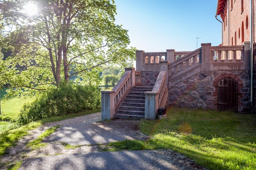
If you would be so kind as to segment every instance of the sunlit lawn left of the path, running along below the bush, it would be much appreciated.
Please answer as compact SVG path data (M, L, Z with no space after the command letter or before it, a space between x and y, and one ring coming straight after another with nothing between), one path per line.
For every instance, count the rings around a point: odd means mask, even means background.
M1 97L2 94L3 93L1 93ZM29 130L37 128L44 122L60 121L63 119L68 119L76 116L100 112L100 109L85 110L80 113L50 117L37 122L31 122L24 126L16 124L15 119L18 118L18 114L23 104L31 101L31 97L11 98L8 100L2 100L1 98L2 115L0 115L0 157L6 153L7 148L15 145L18 139L27 135Z

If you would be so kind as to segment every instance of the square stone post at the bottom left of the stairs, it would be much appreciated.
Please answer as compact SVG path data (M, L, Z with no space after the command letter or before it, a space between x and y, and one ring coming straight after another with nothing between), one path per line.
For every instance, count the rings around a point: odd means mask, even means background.
M115 114L115 91L101 91L101 120L110 120Z

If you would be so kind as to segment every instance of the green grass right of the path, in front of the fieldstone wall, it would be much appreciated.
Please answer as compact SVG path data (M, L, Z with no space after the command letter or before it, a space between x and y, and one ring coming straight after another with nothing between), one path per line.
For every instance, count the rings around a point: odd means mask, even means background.
M254 114L171 108L166 119L144 120L140 129L151 139L113 142L109 150L171 149L210 170L256 169Z

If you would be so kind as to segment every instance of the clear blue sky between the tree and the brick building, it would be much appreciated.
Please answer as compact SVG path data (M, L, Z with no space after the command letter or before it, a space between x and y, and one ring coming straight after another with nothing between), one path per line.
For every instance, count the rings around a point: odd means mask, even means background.
M115 23L128 30L130 46L138 50L193 51L197 37L198 48L221 44L217 0L115 0L115 5Z

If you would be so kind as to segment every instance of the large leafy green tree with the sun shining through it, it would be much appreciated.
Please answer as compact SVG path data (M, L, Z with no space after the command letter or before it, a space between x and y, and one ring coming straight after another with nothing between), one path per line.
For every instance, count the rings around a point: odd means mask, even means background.
M26 13L27 3L36 14ZM44 89L73 75L96 81L103 64L131 66L135 49L115 15L113 0L0 0L10 86Z

